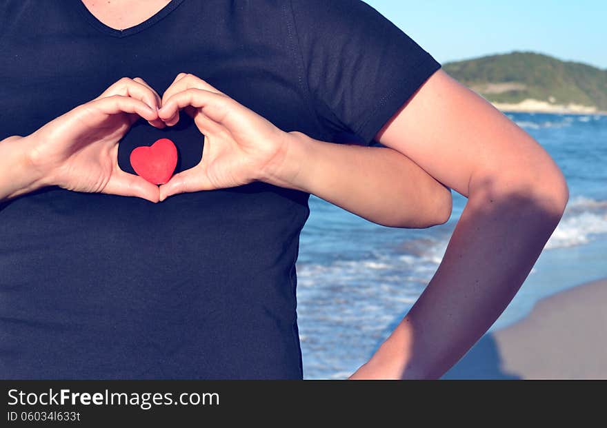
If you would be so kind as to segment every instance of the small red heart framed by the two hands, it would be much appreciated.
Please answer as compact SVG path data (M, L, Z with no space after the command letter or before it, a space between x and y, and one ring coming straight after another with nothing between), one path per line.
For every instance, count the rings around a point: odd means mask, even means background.
M130 152L130 164L143 179L164 184L177 166L177 147L169 139L159 139L150 147L142 145Z

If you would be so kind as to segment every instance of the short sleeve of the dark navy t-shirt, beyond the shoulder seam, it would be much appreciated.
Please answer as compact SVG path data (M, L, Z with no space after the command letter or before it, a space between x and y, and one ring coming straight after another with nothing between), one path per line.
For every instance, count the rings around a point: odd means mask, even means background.
M304 79L319 120L372 145L441 65L364 1L291 0Z

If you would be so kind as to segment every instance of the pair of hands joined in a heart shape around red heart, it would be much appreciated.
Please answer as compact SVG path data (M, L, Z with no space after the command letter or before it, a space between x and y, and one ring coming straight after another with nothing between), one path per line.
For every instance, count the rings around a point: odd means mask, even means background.
M204 135L201 162L170 179L168 173L148 176L154 184L142 177L146 174L121 170L118 143L130 126L140 117L156 128L172 126L180 110ZM179 74L162 99L143 79L123 78L30 134L28 161L40 185L158 202L172 194L267 179L283 161L289 134L192 74ZM174 157L169 154L168 165Z

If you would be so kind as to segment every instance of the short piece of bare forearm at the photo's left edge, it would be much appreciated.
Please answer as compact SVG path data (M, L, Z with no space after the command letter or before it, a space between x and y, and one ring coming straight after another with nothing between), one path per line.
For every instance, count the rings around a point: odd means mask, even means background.
M42 177L28 163L28 137L9 136L0 141L0 201L43 187Z

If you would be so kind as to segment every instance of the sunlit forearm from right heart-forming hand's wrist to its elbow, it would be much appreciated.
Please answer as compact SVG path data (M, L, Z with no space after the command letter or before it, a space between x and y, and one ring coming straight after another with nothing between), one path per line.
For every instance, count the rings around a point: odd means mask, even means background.
M281 167L264 181L315 194L381 225L428 227L448 220L450 190L396 150L287 135Z

